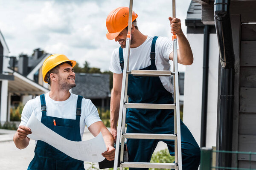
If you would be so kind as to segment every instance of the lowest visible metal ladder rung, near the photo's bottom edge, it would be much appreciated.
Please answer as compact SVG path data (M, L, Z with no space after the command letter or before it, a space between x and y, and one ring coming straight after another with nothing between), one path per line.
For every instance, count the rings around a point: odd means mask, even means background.
M177 167L177 164L174 164L174 163L153 163L153 162L122 162L120 164L120 167L175 169L175 167Z

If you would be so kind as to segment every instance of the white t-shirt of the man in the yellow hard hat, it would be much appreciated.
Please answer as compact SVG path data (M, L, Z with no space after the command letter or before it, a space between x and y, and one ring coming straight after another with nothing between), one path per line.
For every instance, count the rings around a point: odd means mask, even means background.
M70 97L65 101L55 101L50 98L49 92L44 94L46 102L46 115L58 117L62 119L76 119L76 103L78 95L70 93ZM26 125L29 117L35 113L37 119L41 122L41 100L40 96L29 100L23 108L21 114L20 125ZM82 99L81 103L81 117L80 117L80 134L81 139L84 133L85 125L89 127L95 122L99 122L99 113L97 108L93 105L90 99Z

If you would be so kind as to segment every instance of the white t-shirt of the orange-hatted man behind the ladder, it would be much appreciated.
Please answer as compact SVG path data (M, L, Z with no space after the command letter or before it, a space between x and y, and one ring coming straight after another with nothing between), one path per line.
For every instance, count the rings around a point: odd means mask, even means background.
M139 70L151 65L150 52L153 38L154 36L148 35L147 39L145 42L143 42L142 45L136 48L130 48L129 71ZM169 55L172 53L172 41L167 37L158 37L155 46L155 53L155 64L157 70L169 71L171 68ZM123 48L123 56L125 59L125 48ZM116 48L111 56L109 70L116 74L122 74L119 62L119 48ZM160 77L160 80L163 84L163 87L170 93L173 93L171 76Z

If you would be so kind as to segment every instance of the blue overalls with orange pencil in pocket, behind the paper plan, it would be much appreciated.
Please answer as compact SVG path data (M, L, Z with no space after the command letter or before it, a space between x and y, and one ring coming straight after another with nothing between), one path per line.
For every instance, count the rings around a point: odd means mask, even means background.
M82 96L78 96L76 104L76 119L61 119L46 115L44 94L40 96L42 118L41 122L49 129L71 141L81 141L80 116ZM55 119L56 126L53 124ZM55 147L38 140L35 156L29 164L28 170L84 170L84 161L67 156Z

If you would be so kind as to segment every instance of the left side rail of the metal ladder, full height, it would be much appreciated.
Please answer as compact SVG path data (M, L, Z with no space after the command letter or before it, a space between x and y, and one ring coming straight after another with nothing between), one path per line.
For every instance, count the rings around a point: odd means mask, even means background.
M128 81L128 62L129 62L129 55L130 55L130 45L131 45L131 21L132 21L132 4L133 0L130 0L130 7L129 7L129 18L128 18L128 34L126 37L126 46L125 46L125 59L124 59L124 69L123 69L123 76L122 76L122 90L121 90L121 99L120 99L120 107L119 107L119 119L118 119L118 129L117 129L117 136L116 136L116 153L115 153L115 160L114 160L114 170L117 170L118 166L118 159L119 159L119 143L120 143L120 136L121 136L121 126L122 126L122 114L123 114L123 105L127 100L127 84ZM125 95L126 94L126 95ZM120 163L120 162L119 162ZM122 170L120 167L119 170Z

